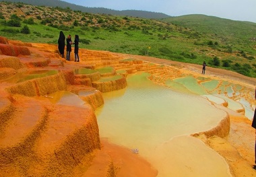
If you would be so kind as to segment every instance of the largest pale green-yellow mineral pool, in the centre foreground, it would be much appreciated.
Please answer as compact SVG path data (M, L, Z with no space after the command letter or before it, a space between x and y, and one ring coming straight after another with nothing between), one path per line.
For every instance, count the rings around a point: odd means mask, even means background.
M104 106L96 110L100 137L138 149L158 176L231 176L218 153L189 136L216 127L226 112L201 96L156 85L148 75L131 75L127 88L103 93Z

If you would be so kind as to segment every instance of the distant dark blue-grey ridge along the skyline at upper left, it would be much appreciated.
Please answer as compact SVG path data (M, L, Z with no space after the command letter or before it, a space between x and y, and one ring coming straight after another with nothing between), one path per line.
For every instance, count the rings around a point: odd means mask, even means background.
M44 0L44 1L37 1L37 0L5 0L7 2L13 3L26 3L30 5L39 5L39 6L49 6L49 7L61 7L67 8L74 11L82 11L87 13L100 13L100 14L110 14L110 15L123 15L123 16L131 16L131 17L143 17L143 18L150 18L150 19L161 19L170 17L164 13L152 12L152 11L137 11L137 10L123 10L117 11L113 9L107 9L103 7L84 7L82 5L75 5L73 3L67 3L65 1L59 0Z

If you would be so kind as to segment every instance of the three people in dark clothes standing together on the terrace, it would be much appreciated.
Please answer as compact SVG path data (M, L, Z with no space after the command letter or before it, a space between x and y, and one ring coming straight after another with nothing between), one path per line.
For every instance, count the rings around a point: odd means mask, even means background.
M65 35L63 31L59 32L59 40L58 40L58 48L59 52L61 53L61 57L64 58L64 50L65 50L65 40L67 42L67 55L66 55L66 60L70 61L70 53L71 53L71 45L75 44L75 62L79 62L79 55L78 55L78 50L79 50L79 36L75 34L75 40L72 42L71 35L67 36L65 39Z

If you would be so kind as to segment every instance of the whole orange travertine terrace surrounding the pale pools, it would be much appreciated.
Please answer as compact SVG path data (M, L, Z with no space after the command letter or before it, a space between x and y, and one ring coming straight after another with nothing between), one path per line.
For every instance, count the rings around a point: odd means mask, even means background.
M127 173L131 176L157 176L157 169L139 155L100 139L94 110L104 104L101 93L127 87L127 75L137 72L151 73L149 79L169 87L166 84L168 79L189 75L199 84L216 79L216 75L201 79L200 71L197 72L200 66L192 68L147 57L86 49L80 49L79 56L79 63L73 61L73 56L71 61L66 61L60 57L57 45L30 44L0 37L1 176L124 176ZM113 67L113 71L74 72L75 69L96 71L104 67ZM106 81L101 80L106 77ZM218 80L220 82L214 89L208 89L208 93L225 93L225 88L234 84L220 77ZM248 81L242 86L234 84L233 88L240 94L233 94L232 99L243 97L255 104L251 94L254 89L252 83ZM188 87L171 88L193 92ZM49 95L59 91L74 94L86 91L88 94L81 96L84 100L82 106L53 104L49 101ZM219 105L224 108L228 106L225 100ZM245 110L238 107L235 112L243 113ZM234 122L232 116L227 116L218 127L195 133L194 136L213 149L217 147L213 137L230 145L234 141L234 136L230 141L227 138L230 118ZM236 121L244 121L249 127L250 120L237 118ZM234 129L232 123L231 129ZM227 159L232 174L239 175L236 169L238 163L235 160L229 162L222 150L219 146L216 148ZM244 167L253 175L248 165L253 157L246 159L245 155L248 153L239 158L244 164L247 163Z

